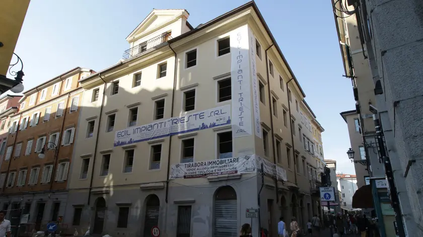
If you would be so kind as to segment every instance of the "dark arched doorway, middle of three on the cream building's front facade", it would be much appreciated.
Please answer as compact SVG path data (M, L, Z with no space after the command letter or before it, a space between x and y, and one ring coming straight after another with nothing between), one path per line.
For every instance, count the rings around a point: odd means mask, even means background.
M144 237L151 235L151 229L159 225L160 199L156 194L146 198L146 218L144 221Z

